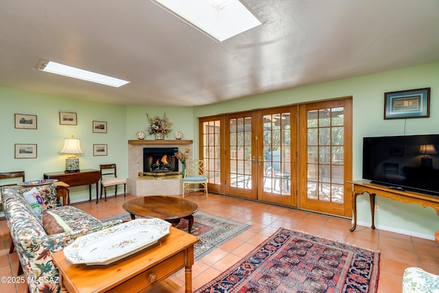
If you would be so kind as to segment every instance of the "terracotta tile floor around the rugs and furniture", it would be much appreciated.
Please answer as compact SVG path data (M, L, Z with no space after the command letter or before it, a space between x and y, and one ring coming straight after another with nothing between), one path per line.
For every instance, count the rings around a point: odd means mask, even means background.
M100 201L99 204L92 201L74 205L98 219L103 219L123 213L122 204L130 198L134 196L110 197L107 202ZM364 226L357 226L357 229L351 233L350 220L228 196L209 194L209 198L205 198L202 192L195 192L187 194L185 198L197 203L201 211L252 225L247 231L215 248L199 261L195 261L192 271L194 290L239 261L279 227L298 229L364 248L380 250L379 293L401 292L403 271L409 266L419 266L439 274L439 244L432 240L387 231L372 231ZM0 277L15 276L18 259L16 253L9 254L10 237L5 220L0 221L0 226L2 233ZM156 285L148 293L180 293L184 292L184 285L184 272L180 271L174 277ZM0 291L27 292L27 285L0 283Z

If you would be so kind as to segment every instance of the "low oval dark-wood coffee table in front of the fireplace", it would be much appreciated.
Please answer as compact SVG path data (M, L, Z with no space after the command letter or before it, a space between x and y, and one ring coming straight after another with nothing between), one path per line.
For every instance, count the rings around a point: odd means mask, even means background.
M198 205L173 196L145 196L134 198L123 204L123 209L131 214L132 220L139 217L159 218L170 222L173 226L180 222L180 219L189 221L188 231L192 231L193 213L198 211Z

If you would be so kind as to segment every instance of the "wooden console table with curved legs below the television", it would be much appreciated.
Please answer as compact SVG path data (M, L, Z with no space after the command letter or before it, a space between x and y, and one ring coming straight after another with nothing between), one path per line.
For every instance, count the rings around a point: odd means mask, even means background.
M400 200L405 203L416 203L422 207L432 207L439 215L439 196L429 196L427 194L418 194L412 191L403 191L391 189L389 187L370 184L366 180L351 181L353 185L352 191L352 209L353 209L353 225L349 231L353 232L357 227L357 196L366 192L370 199L370 215L372 216L372 225L370 228L375 229L375 196L390 198L392 200Z

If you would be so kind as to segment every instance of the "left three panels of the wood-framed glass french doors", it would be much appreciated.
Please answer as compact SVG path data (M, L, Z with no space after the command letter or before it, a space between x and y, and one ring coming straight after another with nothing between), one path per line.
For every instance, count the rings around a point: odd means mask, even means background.
M225 115L217 128L219 117L200 119L209 190L295 207L296 112L288 106Z

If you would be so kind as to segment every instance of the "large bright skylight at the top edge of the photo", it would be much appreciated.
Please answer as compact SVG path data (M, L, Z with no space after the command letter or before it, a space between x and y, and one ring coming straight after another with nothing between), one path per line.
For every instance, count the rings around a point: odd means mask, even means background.
M239 0L152 1L219 42L261 25Z

